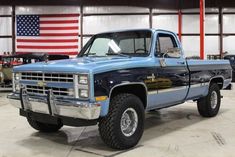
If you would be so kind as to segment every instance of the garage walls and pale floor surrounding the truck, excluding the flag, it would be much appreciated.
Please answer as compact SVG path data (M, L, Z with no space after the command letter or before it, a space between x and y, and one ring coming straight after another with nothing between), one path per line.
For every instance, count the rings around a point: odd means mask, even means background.
M177 33L185 57L222 59L235 55L235 1L230 0L0 0L0 55L21 53L16 16L34 14L77 14L77 52L96 33L156 28ZM33 130L8 102L10 92L5 88L0 91L2 157L234 156L234 89L221 91L221 110L214 118L202 118L196 102L191 101L146 113L141 141L124 151L107 147L97 126L63 127L51 134Z

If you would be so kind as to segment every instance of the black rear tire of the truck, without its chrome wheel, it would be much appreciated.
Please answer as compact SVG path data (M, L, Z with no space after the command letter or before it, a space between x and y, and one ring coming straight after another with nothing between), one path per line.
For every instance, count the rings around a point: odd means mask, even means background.
M217 94L217 104L214 107L212 107L213 105L211 103L212 93ZM218 84L212 83L209 87L208 95L197 101L198 112L203 117L214 117L219 112L220 103L221 103L220 88Z

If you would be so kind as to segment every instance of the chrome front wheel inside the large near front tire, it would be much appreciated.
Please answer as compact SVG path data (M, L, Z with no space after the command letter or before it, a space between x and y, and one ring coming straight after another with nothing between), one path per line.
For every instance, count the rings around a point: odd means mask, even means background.
M121 131L123 135L130 137L138 126L138 116L133 108L126 109L121 117Z

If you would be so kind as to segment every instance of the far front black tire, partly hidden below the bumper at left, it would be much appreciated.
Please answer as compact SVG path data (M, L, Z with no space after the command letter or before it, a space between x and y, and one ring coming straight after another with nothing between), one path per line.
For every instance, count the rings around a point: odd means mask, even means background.
M63 126L63 124L61 123L56 125L56 124L47 124L47 123L38 122L30 117L27 117L27 120L32 128L40 132L47 132L47 133L57 132Z

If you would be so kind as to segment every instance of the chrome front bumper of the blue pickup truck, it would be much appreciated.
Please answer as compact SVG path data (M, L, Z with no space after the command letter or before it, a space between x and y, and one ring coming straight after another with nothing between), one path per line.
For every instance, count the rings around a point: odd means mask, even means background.
M56 98L47 96L36 96L27 94L11 93L7 96L10 103L24 111L43 113L51 116L65 116L94 120L98 119L101 112L101 105L89 103L77 99Z

